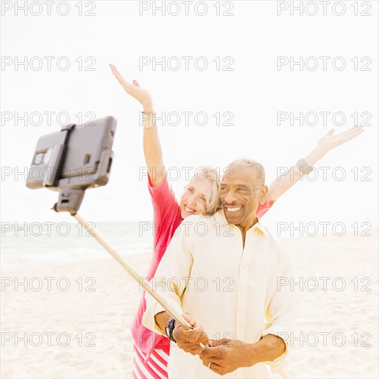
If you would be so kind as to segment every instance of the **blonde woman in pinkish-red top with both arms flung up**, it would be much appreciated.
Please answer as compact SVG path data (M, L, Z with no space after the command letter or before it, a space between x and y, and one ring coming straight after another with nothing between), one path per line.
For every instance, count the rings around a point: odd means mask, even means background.
M218 178L216 169L210 166L205 167L205 175L201 174L199 177L207 179L199 180L194 176L186 185L185 192L183 192L181 201L178 203L164 173L163 154L158 130L154 123L154 110L150 93L143 90L136 80L133 80L132 83L125 81L114 65L110 65L110 68L124 90L143 105L143 152L146 165L149 167L148 188L152 197L154 225L156 226L153 258L147 273L147 277L152 278L176 228L183 219L192 214L212 215L221 208L219 200L220 178ZM353 139L362 131L362 127L355 126L334 136L334 130L330 130L318 141L316 148L297 163L298 166L291 167L287 173L280 176L280 181L276 180L269 186L265 204L258 207L258 217L262 217L277 198L300 180L306 167L313 166L329 150ZM161 174L152 175L153 172ZM145 308L143 296L132 325L132 336L134 338L133 378L167 378L170 340L154 334L142 325Z

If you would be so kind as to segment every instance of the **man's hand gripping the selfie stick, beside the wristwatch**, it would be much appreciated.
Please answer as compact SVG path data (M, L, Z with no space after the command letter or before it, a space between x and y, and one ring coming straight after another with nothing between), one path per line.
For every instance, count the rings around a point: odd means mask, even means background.
M175 328L172 331L172 336L178 343L178 347L192 355L200 354L203 350L200 344L206 346L208 344L208 336L203 327L198 325L192 314L185 313L182 316L187 320L193 329L184 330L181 324L175 321Z

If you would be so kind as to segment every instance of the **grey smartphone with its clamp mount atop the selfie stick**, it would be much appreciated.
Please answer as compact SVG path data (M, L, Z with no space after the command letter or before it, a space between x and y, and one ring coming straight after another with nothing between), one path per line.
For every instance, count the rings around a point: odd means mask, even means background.
M26 186L59 192L54 209L76 213L85 189L109 181L116 123L114 117L107 116L83 125L63 126L59 132L41 136L34 149Z

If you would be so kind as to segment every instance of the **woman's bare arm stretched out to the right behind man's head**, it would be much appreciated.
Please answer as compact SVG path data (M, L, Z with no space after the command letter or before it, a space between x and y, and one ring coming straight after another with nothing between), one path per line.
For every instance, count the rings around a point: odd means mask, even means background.
M312 150L303 160L305 165L313 166L322 156L325 156L327 152L334 149L342 143L354 139L358 134L363 132L363 127L356 125L346 130L343 133L334 135L334 129L329 130L322 139L318 140L316 147ZM304 165L303 164L303 165ZM267 194L267 201L276 201L282 196L289 188L296 184L303 176L305 168L300 164L300 167L293 166L289 168L285 174L278 176L271 185L269 185L269 192Z

